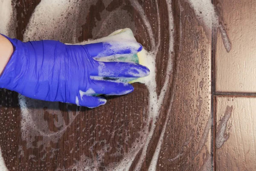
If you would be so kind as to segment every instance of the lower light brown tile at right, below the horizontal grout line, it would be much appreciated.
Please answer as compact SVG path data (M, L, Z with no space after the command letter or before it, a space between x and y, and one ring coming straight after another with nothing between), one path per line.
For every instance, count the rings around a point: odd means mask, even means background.
M216 97L215 170L256 170L256 97Z

